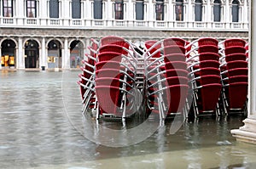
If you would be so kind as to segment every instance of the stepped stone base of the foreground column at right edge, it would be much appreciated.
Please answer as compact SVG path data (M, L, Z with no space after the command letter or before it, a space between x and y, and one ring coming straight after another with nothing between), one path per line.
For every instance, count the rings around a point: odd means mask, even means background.
M244 121L244 126L239 129L231 130L231 134L237 141L256 144L256 118L249 116Z

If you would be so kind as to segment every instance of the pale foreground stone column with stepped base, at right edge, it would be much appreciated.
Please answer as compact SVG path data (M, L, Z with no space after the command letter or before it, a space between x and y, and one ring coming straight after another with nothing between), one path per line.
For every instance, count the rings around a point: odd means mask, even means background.
M236 140L256 144L256 31L253 29L256 26L256 2L250 1L251 14L250 14L250 31L249 31L249 72L248 72L248 115L245 119L244 126L239 129L231 130L231 133Z

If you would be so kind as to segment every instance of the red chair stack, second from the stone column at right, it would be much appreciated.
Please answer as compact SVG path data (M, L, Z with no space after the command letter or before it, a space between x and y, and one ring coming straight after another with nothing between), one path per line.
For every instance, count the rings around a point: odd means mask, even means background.
M218 100L221 92L218 40L204 37L190 42L186 54L189 84L193 93L192 115L220 115ZM194 111L194 113L193 113Z

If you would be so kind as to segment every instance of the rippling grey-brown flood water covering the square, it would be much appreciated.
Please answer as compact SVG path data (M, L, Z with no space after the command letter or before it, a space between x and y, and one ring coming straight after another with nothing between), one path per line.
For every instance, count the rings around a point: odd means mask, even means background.
M256 146L230 129L244 117L171 123L113 148L86 138L79 71L0 70L0 168L256 168ZM114 126L116 122L106 122Z

